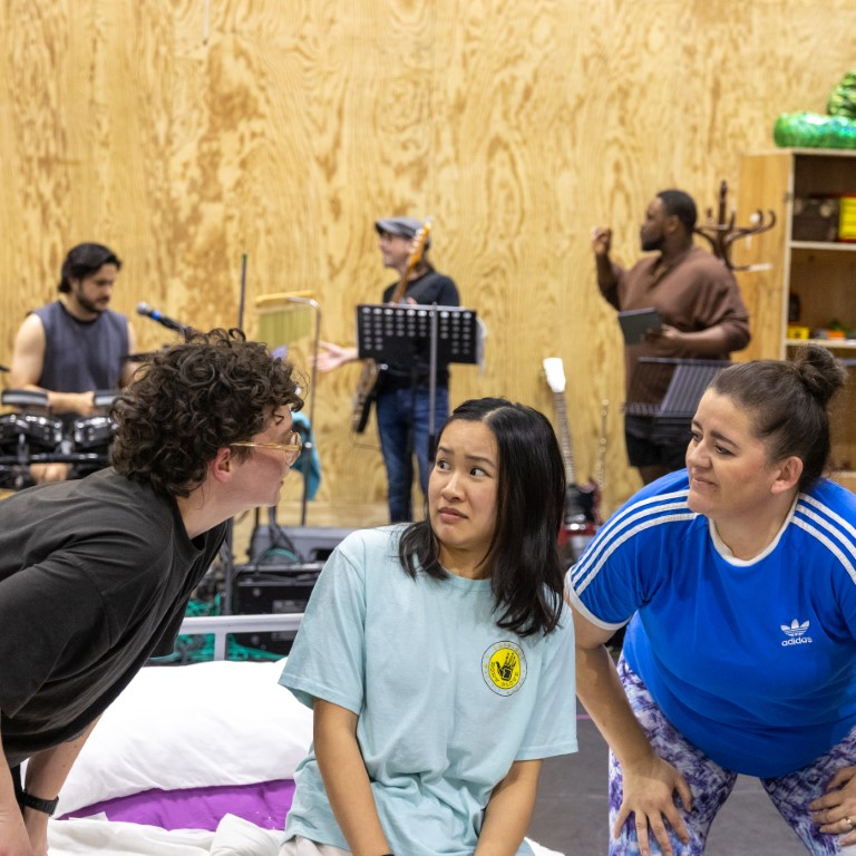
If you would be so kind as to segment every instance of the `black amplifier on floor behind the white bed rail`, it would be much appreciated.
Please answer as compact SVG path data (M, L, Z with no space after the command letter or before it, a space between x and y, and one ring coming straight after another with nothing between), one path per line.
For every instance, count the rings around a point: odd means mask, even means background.
M250 573L236 568L232 607L236 615L276 615L304 612L323 564L254 565ZM235 642L275 654L288 654L294 631L235 633Z

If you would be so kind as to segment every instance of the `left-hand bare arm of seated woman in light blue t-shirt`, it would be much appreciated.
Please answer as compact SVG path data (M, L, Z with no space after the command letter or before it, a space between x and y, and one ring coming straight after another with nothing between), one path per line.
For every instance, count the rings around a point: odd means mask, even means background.
M330 807L353 856L382 856L390 847L357 742L357 720L352 711L315 699L315 758Z

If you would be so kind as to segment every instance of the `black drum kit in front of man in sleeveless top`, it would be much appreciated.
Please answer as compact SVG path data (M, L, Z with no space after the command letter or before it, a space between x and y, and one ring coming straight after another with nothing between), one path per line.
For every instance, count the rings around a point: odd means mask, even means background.
M19 489L32 484L33 464L69 464L71 478L108 466L116 396L113 390L96 392L93 415L60 418L51 412L46 392L3 390L0 401L14 409L0 416L0 486Z

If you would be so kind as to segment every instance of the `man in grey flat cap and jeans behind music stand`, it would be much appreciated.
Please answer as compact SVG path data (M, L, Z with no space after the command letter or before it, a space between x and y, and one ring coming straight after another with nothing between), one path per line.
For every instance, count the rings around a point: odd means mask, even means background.
M455 282L438 273L427 257L430 236L425 240L424 247L415 241L424 225L422 221L403 216L382 217L374 222L383 266L399 274L399 280L385 289L381 300L389 303L396 298L393 302L460 305ZM358 359L356 347L322 341L315 366L319 371L332 371ZM382 367L377 383L367 397L367 406L372 401L387 470L390 523L412 521L414 456L424 496L427 495L431 467L428 449L431 402L427 349L416 357L414 364L389 361ZM437 364L434 409L435 426L439 429L449 415L448 363Z

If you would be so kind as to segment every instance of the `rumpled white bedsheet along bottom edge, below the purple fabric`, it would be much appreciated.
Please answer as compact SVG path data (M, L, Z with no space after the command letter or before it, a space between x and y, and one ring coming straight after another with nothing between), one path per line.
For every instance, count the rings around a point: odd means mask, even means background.
M282 833L226 815L216 831L113 823L101 818L51 820L50 856L276 856ZM535 856L562 856L529 839Z

